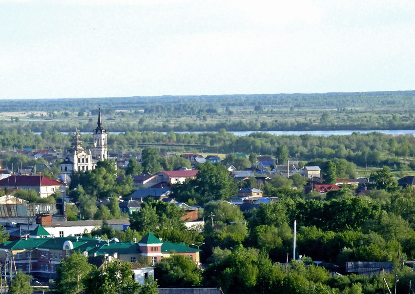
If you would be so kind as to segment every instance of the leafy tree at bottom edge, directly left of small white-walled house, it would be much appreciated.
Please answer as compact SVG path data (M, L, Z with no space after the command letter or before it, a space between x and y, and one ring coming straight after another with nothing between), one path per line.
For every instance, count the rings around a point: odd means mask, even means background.
M137 293L141 288L132 277L131 266L118 260L93 270L86 285L87 294L130 294Z

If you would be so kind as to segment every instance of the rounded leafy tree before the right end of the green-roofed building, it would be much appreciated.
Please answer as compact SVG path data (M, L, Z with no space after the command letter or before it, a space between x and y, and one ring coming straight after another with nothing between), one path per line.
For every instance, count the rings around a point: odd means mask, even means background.
M202 283L202 272L193 259L179 254L163 258L157 263L154 275L160 281L160 286L199 286Z

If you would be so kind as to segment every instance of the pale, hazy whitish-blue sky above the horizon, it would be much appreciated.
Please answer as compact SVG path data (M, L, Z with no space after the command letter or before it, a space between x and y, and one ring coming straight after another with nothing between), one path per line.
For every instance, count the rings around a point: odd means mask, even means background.
M0 99L413 90L414 0L0 0Z

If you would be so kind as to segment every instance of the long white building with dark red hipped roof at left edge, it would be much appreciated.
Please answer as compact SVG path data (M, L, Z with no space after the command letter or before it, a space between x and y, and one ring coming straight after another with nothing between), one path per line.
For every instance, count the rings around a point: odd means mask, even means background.
M2 188L33 189L39 197L46 198L54 193L66 196L66 185L45 176L14 175L0 180Z

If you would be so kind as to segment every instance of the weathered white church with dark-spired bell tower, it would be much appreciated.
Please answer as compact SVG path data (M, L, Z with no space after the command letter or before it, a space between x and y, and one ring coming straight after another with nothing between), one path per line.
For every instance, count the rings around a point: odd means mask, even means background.
M99 160L108 157L107 132L103 128L101 108L98 111L98 126L94 129L94 148L86 152L82 147L81 132L76 130L72 135L72 146L63 154L60 164L61 172L72 174L76 171L94 169Z

